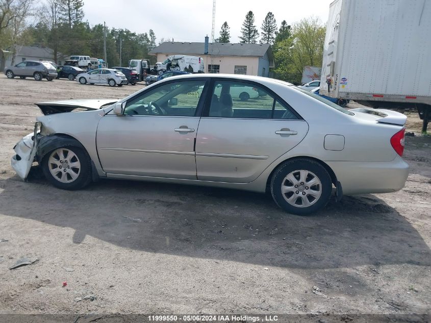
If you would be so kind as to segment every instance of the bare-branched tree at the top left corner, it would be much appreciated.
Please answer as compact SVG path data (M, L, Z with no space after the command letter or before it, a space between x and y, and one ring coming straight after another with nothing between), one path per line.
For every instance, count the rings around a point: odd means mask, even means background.
M5 68L6 44L12 43L15 52L16 39L31 14L32 4L33 0L0 0L0 70Z

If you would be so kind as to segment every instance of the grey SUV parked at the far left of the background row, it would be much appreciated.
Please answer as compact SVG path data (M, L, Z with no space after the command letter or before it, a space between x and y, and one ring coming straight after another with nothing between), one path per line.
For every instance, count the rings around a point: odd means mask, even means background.
M36 81L41 81L43 78L52 81L57 77L57 70L48 62L24 61L15 66L7 66L5 74L9 79L19 76L21 79L33 77Z

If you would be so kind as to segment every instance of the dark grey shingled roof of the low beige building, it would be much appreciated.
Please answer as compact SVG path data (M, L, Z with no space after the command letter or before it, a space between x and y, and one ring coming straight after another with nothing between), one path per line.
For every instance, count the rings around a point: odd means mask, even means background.
M234 43L209 43L208 55L217 56L257 56L263 57L269 52L268 55L272 58L271 46L269 44L234 44ZM198 54L204 55L205 43L204 42L170 42L166 41L159 46L151 49L149 54Z

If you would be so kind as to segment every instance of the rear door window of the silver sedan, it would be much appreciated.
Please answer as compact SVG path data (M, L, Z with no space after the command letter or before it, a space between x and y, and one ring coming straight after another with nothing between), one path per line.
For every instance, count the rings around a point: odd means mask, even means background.
M275 110L276 109L276 110ZM210 117L298 119L290 107L263 87L237 81L217 81L212 91Z

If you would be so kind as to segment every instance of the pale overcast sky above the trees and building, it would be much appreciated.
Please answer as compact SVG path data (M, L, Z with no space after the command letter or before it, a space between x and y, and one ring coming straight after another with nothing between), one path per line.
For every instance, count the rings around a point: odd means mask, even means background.
M277 27L286 20L293 24L302 18L319 17L326 23L329 4L334 0L216 0L215 33L219 36L224 21L231 28L231 42L238 43L241 25L249 10L261 32L262 21L271 11ZM107 26L129 29L138 34L153 29L157 43L161 38L174 41L211 41L212 0L84 0L85 20L90 26L106 21Z

